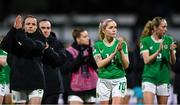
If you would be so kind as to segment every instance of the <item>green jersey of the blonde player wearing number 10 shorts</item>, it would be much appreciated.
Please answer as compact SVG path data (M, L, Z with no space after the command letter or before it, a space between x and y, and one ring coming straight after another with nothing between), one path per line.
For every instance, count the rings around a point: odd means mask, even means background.
M119 43L119 40L114 39L112 43L113 44L109 46L103 40L97 41L94 45L94 51L93 51L94 57L100 55L102 59L105 59L109 55L111 55L115 51ZM125 41L123 41L122 43L122 50L126 54L126 56L128 56L127 44ZM108 65L98 69L99 78L115 79L124 76L125 76L125 70L122 66L121 56L118 51L114 59L112 59Z

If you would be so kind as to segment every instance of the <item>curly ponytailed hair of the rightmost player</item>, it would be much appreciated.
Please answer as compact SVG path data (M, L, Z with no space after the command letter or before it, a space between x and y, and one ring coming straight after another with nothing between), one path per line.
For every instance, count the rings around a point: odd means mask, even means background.
M154 28L157 28L159 27L160 23L165 20L164 18L162 17L155 17L153 18L152 21L148 21L145 26L144 26L144 29L141 33L141 37L146 37L146 36L150 36L152 35L153 31L154 31Z

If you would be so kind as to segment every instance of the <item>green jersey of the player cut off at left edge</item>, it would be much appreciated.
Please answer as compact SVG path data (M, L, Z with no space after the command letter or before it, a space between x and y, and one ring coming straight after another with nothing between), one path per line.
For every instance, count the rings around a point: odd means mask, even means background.
M7 53L0 49L0 58L7 57ZM6 64L0 67L0 84L9 83L10 67Z

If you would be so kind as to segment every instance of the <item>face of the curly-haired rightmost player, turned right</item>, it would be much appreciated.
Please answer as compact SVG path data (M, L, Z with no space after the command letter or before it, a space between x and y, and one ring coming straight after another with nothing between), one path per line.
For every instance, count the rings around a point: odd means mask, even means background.
M167 22L166 20L162 20L160 25L157 28L158 36L162 37L167 31Z

